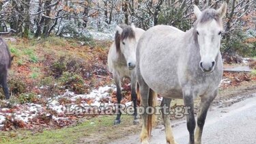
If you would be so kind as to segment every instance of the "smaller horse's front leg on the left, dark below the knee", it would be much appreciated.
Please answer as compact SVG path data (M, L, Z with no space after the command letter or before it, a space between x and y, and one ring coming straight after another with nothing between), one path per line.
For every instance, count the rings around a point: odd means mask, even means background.
M117 117L115 118L115 121L114 121L114 125L117 125L117 124L120 124L121 123L121 115L122 115L122 112L121 112L121 109L122 109L122 106L121 106L121 100L122 100L122 90L121 90L121 79L120 79L120 76L119 74L117 74L117 72L113 72L113 78L115 80L115 85L117 86Z

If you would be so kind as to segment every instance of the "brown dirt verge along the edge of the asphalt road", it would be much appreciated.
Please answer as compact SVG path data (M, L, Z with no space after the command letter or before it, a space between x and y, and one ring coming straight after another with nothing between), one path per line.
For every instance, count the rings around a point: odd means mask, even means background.
M210 111L218 108L228 107L236 102L250 98L252 96L250 95L251 93L256 93L256 81L245 81L238 87L229 87L228 89L220 90L218 96L214 102L212 102ZM195 102L195 113L197 113L199 100L195 100ZM184 119L184 117L182 119L172 119L172 127L178 126L179 121ZM159 127L160 125L162 125L162 119L159 119L158 126L156 127ZM117 139L124 139L124 137L138 134L141 130L141 124L132 125L132 121L128 123L126 121L126 124L122 124L122 127L111 126L109 128L103 128L102 130L109 130L109 132L104 132L103 134L102 132L99 132L98 134L91 134L89 137L85 136L84 138L79 139L77 143L112 143L113 141L117 141Z

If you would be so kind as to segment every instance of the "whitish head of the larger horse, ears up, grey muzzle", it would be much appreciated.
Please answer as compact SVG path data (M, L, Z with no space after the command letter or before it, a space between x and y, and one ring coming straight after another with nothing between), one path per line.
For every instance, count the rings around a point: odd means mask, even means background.
M197 20L193 34L201 56L199 67L203 72L212 72L216 66L216 57L221 47L222 18L226 12L227 3L223 3L218 10L206 9L203 12L195 5Z

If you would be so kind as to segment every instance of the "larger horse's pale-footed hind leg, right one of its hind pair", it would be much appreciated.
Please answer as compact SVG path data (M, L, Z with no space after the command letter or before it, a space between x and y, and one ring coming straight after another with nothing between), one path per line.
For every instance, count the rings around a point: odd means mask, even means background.
M173 132L171 130L170 105L171 105L171 98L162 99L161 111L162 111L162 119L164 120L166 141L169 144L175 144L176 142L175 142L175 139L173 138Z

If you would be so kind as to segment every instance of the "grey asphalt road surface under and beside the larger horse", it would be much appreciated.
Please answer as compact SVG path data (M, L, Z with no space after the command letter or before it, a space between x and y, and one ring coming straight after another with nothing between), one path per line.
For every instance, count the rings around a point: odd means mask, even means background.
M186 121L171 121L177 143L188 143ZM124 136L113 143L140 143L139 133ZM165 141L163 126L152 131L151 144ZM203 129L202 143L205 144L256 144L256 93L253 97L232 104L226 108L212 108L208 112Z

